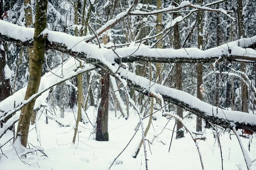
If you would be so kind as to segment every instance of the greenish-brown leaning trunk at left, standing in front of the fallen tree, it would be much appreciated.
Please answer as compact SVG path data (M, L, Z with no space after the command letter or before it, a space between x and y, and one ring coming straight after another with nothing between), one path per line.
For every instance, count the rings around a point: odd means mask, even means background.
M38 92L42 65L44 63L44 52L46 36L42 35L47 25L47 0L37 0L35 14L35 34L34 34L34 52L29 58L29 82L26 90L25 100ZM29 134L29 122L32 116L35 99L23 107L20 112L20 119L17 127L17 136L20 137L21 144L26 147Z

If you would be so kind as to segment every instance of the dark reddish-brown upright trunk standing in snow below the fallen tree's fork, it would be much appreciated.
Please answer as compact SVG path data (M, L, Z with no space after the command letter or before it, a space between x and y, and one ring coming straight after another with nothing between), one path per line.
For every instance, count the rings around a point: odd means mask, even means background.
M102 42L107 44L107 35L103 36ZM108 141L108 92L109 92L109 73L102 70L101 73L101 102L99 104L97 116L96 141Z

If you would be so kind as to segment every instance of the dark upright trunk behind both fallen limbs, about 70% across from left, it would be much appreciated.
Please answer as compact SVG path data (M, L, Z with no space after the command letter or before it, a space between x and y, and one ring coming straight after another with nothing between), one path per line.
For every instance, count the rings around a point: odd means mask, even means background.
M175 0L175 6L180 3L180 0ZM176 18L178 17L178 13L173 13L173 17ZM178 23L176 23L173 27L173 46L175 49L180 49L180 27ZM176 89L177 90L182 90L182 63L176 63L175 64L176 68ZM177 115L183 118L183 109L177 106ZM184 137L184 130L183 124L177 121L177 126L176 126L176 139L183 138Z

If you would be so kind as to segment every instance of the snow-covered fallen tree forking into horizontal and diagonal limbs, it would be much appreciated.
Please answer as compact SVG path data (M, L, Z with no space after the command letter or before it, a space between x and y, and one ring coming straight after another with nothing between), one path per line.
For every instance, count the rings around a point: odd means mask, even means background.
M0 24L4 24L4 26L0 28L0 39L32 47L32 28L19 27L4 21L0 21ZM20 32L23 34L20 34ZM206 51L200 51L198 49L195 51L195 48L180 50L163 49L163 51L160 51L159 49L151 49L144 46L117 49L116 53L119 56L116 56L111 49L99 49L96 45L84 42L82 37L74 37L65 33L49 30L45 30L44 34L47 35L48 49L58 50L66 54L70 54L75 58L83 59L87 63L92 63L93 65L104 69L113 77L118 77L119 79L122 77L122 83L124 86L128 83L130 87L142 94L155 96L162 98L167 102L174 103L175 105L178 105L181 108L184 108L216 125L220 125L225 128L233 128L236 126L236 128L239 129L256 131L256 115L239 111L223 110L202 102L186 92L158 85L154 82L150 83L148 79L137 76L124 68L120 68L117 71L119 65L115 62L119 57L127 55L130 55L130 58L131 56L140 55L147 59L153 58L151 60L152 62L163 62L161 59L164 58L166 59L166 62L172 62L173 60L181 62L182 59L188 57L190 61L211 62L213 59L219 59L223 55L226 57L239 57L239 59L248 59L249 57L250 60L256 60L255 50L247 48L246 51L244 51L244 48L256 43L256 36L249 39L230 42L226 45L222 45L221 48L216 47ZM189 55L190 52L191 55ZM244 52L247 53L244 54ZM250 54L248 54L248 52L250 52ZM139 60L140 58L137 59ZM145 60L146 59L144 59L144 61Z

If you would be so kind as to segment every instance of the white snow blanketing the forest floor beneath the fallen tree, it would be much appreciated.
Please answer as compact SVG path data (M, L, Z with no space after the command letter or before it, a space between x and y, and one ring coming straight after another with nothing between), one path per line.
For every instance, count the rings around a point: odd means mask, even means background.
M96 111L94 111L93 108L89 108L87 113L90 121L95 122ZM61 121L65 125L70 125L70 127L60 127L55 121L49 119L49 124L47 125L45 123L45 116L39 115L37 116L38 118L40 117L37 121L39 141L49 158L41 156L39 152L37 153L38 156L36 156L36 154L35 156L29 154L27 158L21 159L30 164L30 166L23 164L11 143L9 143L3 147L3 153L5 153L8 159L0 155L0 170L107 170L113 159L123 150L131 139L131 136L133 136L135 132L134 128L139 120L133 110L131 110L128 120L124 118L118 119L119 114L120 113L117 112L118 116L115 117L113 111L109 113L110 139L108 142L95 141L93 139L95 134L91 135L93 131L92 125L90 125L90 123L86 125L81 123L79 124L79 144L76 142L75 145L71 144L74 133L73 126L75 125L73 111L67 109L65 117ZM146 126L148 119L144 121L144 125ZM154 135L158 135L167 122L168 119L161 117L160 114L157 115L157 120L153 121L154 128L151 126L146 139L151 142ZM193 119L186 118L185 122L190 129L195 130L195 121ZM148 169L200 170L201 163L198 152L195 143L188 133L185 133L185 138L178 140L175 139L174 134L172 147L170 153L168 153L174 124L175 120L171 119L166 129L163 130L163 133L154 139L150 148L146 141ZM34 125L30 127L29 143L35 146L39 145L39 143L37 142L34 127ZM206 129L204 133L206 133L205 136L207 140L205 142L198 141L204 168L205 170L221 170L221 156L218 141L213 137L212 130ZM3 143L3 140L11 135L11 131L7 132L6 135L0 139L0 143ZM232 140L230 140L230 138ZM140 139L141 131L138 131L130 145L115 161L111 170L145 170L143 148L140 150L137 159L132 158ZM236 136L221 133L220 139L224 159L224 170L239 170L238 166L242 167L242 170L246 170L247 167ZM252 142L250 143L250 152L247 147L249 139L243 138L241 140L250 158L252 160L256 159L255 135L253 135ZM253 162L251 170L256 170L256 161Z

